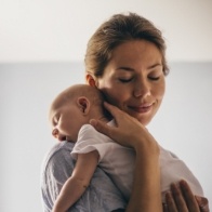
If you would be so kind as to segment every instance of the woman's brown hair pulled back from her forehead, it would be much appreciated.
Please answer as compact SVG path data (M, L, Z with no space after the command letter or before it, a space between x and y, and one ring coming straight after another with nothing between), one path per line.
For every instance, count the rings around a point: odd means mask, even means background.
M165 43L161 31L151 22L135 13L116 14L97 28L88 42L85 71L95 77L103 76L116 47L127 41L142 39L155 43L158 48L162 55L163 74L168 75Z

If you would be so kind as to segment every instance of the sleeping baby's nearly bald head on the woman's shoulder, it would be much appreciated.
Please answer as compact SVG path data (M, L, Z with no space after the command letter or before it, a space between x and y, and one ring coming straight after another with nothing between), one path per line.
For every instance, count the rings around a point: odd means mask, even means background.
M91 118L102 118L103 96L87 84L76 84L59 93L50 107L52 134L58 141L76 142L80 128Z

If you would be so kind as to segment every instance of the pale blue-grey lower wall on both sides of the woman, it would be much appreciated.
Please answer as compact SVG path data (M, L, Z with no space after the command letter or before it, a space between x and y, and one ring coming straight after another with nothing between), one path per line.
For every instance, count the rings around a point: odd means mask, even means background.
M149 131L178 155L212 202L212 63L171 65L167 94ZM66 87L84 82L80 64L0 65L0 211L42 210L40 169L56 141L48 108Z

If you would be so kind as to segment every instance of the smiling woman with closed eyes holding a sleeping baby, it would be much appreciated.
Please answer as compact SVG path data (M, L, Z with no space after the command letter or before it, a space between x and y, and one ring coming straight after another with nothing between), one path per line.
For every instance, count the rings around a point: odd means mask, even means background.
M108 103L122 110L106 104L117 121L116 129L96 120L91 123L102 133L136 151L134 186L125 211L162 211L159 147L145 127L156 115L163 98L164 77L169 72L164 53L161 32L149 21L136 14L112 16L96 30L88 43L88 83L98 88ZM43 171L43 200L45 208L50 209L55 200L54 196L69 176L66 163L70 163L71 159L64 157L61 149L70 151L71 146L67 143L57 145L49 154ZM61 161L59 168L56 155ZM71 163L74 165L72 161ZM201 206L202 199L196 200L186 182L181 182L181 187L182 191L175 184L172 185L173 197L167 195L168 207L163 211L207 211L207 208L202 209L208 206L207 200ZM119 191L97 169L91 187L71 211L115 211L123 209L123 204Z

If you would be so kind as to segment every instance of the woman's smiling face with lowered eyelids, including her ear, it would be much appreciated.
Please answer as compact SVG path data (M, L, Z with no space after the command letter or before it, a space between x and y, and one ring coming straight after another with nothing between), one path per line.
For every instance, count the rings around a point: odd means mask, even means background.
M95 84L110 104L146 125L160 107L164 94L161 54L146 40L122 43L114 50Z

